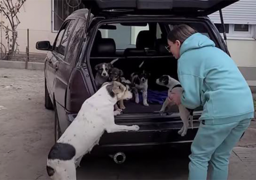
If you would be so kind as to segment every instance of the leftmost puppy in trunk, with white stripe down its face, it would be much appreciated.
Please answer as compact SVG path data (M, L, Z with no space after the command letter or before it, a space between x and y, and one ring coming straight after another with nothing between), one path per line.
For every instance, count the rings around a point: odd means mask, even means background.
M109 70L112 68L112 63L101 63L95 66L95 70L97 71L95 76L95 84L97 89L99 89L103 83L108 81L109 78Z

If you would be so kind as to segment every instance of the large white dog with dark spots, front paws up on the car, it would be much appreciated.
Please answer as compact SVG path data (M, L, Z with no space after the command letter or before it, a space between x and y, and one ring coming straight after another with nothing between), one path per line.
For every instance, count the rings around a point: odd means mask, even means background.
M51 179L76 179L76 167L82 157L98 144L102 134L138 131L139 126L116 125L114 104L131 99L132 93L116 81L106 83L87 99L78 115L52 147L47 158L47 172Z

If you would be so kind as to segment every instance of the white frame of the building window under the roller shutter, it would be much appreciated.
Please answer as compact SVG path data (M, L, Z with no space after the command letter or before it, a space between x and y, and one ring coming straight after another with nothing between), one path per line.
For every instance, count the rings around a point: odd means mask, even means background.
M255 40L256 25L248 24L248 31L234 31L235 24L229 24L229 33L226 33L227 39ZM223 33L221 32L223 38Z

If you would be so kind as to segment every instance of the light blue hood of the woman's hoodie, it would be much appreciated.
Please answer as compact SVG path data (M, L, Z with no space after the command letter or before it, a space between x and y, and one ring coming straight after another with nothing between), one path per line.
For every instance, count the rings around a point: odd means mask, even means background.
M188 37L181 45L180 55L188 50L198 49L206 46L215 46L215 43L209 39L206 35L200 34L199 32Z

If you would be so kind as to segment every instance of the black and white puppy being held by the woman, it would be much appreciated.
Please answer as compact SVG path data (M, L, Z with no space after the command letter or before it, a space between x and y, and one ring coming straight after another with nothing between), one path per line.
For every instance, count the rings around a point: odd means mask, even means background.
M183 92L180 82L168 75L161 76L159 79L157 79L156 83L159 85L168 87L169 88L168 95L170 95L170 93L179 93L181 95ZM169 98L167 97L165 99L165 102L163 103L161 110L160 110L160 114L165 112L165 110L168 106L172 106L174 104L175 103L171 102L169 100ZM182 104L180 104L178 106L178 109L180 112L180 118L183 123L183 126L182 126L181 130L178 131L178 134L181 134L181 136L184 136L187 134L187 131L188 131L189 119L190 119L191 127L193 128L193 110L184 107Z

